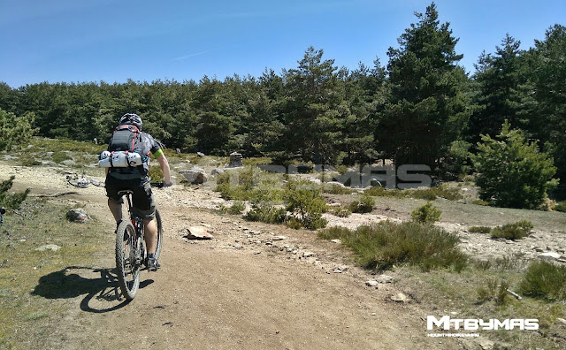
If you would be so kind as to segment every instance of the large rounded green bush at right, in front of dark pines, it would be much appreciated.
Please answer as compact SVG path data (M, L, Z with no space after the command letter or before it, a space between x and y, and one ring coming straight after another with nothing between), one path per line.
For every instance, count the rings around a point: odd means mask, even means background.
M496 138L482 135L471 159L478 171L479 198L493 206L537 209L558 183L552 157L507 121Z

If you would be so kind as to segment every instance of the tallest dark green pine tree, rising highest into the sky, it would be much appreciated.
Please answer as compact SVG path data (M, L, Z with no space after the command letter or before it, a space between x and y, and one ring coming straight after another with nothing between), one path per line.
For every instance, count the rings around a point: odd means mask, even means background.
M401 35L399 49L387 52L391 97L376 131L378 149L396 165L432 167L460 137L470 111L464 94L467 76L457 65L463 55L449 23L440 25L436 5L416 13Z

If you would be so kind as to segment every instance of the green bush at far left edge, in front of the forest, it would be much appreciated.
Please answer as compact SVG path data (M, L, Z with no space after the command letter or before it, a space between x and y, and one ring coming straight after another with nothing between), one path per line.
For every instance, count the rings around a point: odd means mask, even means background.
M34 134L34 113L28 112L21 117L0 109L0 151L27 141Z

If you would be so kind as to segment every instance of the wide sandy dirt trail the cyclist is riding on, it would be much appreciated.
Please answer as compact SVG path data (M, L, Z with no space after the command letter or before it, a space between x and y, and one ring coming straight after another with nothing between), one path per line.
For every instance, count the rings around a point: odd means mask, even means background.
M156 273L142 271L142 289L126 303L113 275L113 223L103 188L67 187L60 170L0 164L16 174L16 188L33 194L76 191L59 201L82 202L109 229L107 255L96 269L75 267L65 278L81 288L66 299L70 311L45 344L34 348L161 349L421 349L462 348L457 339L426 337L426 313L398 304L394 284L364 285L371 275L346 266L313 232L221 217L218 194L183 186L157 190L166 234ZM101 179L102 180L102 179ZM214 240L187 242L180 230L208 224ZM286 240L271 241L273 235ZM273 247L273 245L275 247ZM284 245L299 250L288 253ZM315 257L300 258L301 252ZM337 273L336 267L342 271ZM466 346L468 347L468 346ZM472 346L470 348L476 348Z

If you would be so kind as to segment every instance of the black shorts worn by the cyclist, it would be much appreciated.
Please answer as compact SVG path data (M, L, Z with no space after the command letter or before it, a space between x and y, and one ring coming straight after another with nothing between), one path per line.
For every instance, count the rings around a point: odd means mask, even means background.
M114 202L123 202L119 191L130 189L132 194L132 211L134 214L144 218L153 219L156 217L156 204L153 201L151 186L148 178L142 179L117 179L111 175L106 176L106 196Z

